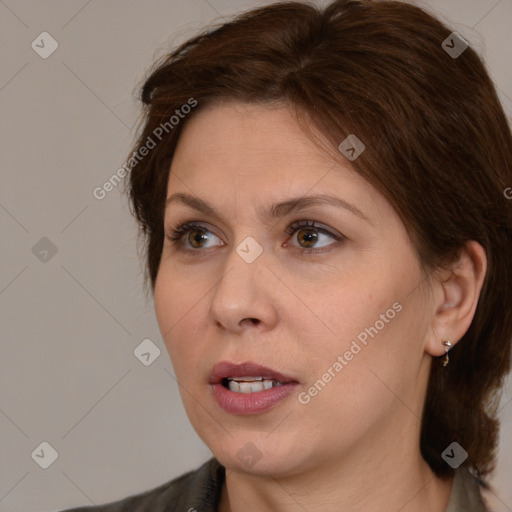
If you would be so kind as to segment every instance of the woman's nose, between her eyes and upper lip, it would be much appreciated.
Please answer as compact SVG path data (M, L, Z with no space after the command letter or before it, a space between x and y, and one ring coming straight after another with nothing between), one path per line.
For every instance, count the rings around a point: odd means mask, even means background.
M210 317L220 329L236 334L272 329L278 320L277 280L266 266L264 253L247 263L235 246L226 258L224 275L211 296Z

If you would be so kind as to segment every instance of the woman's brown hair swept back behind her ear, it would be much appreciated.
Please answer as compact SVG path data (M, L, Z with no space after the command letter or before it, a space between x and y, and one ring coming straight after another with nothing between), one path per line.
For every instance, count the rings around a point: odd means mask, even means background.
M512 136L475 51L454 58L442 47L451 32L419 7L372 0L323 9L280 2L205 30L159 59L144 83L135 152L191 98L198 107L135 162L129 194L154 291L171 160L183 126L202 107L221 99L288 105L335 152L355 134L366 149L354 169L400 215L424 269L455 261L469 240L485 249L473 322L449 365L432 364L420 441L438 476L453 475L441 454L456 441L485 482L510 368L512 204L504 190L512 185Z

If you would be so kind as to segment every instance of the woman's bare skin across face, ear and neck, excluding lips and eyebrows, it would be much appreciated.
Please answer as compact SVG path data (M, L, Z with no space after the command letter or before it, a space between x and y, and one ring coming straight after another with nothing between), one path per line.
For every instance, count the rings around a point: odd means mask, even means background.
M425 279L389 203L343 155L322 152L285 107L224 102L198 112L171 166L167 197L177 192L220 214L168 206L166 233L189 221L206 231L166 240L154 302L187 415L227 470L221 512L444 511L452 480L435 477L421 457L421 411L430 365L440 364L432 356L473 318L486 270L481 246L470 242L452 269ZM343 199L367 220L324 205L261 216L311 194ZM300 220L345 238L287 234ZM248 236L263 249L253 263L236 252ZM301 252L311 247L317 252ZM394 318L300 403L298 394L395 303ZM299 386L264 413L229 414L208 384L219 361L254 361ZM261 454L252 466L237 456L249 442Z

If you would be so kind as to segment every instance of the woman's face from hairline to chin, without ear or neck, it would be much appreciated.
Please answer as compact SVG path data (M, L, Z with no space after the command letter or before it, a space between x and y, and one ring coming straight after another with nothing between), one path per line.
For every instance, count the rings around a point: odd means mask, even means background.
M291 475L418 450L432 302L404 225L350 161L284 107L216 104L181 135L171 196L156 315L217 459Z

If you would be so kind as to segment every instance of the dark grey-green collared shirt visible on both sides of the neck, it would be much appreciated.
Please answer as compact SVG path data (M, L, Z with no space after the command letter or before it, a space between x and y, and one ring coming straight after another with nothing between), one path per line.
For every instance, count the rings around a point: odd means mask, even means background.
M143 493L61 512L217 512L224 478L224 467L212 458L198 469ZM487 512L478 480L464 466L455 471L446 512Z

